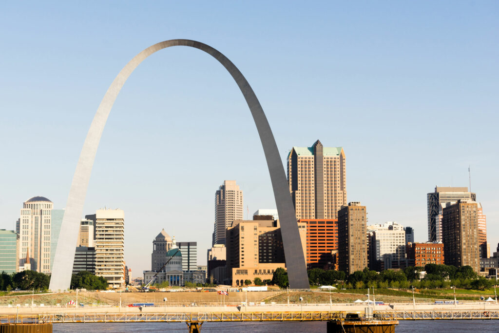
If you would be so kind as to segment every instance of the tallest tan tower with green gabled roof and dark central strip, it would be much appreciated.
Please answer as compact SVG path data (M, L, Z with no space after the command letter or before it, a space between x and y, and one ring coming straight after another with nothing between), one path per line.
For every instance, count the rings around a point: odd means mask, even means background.
M342 147L293 147L287 157L287 180L296 219L337 219L346 205L345 152Z

